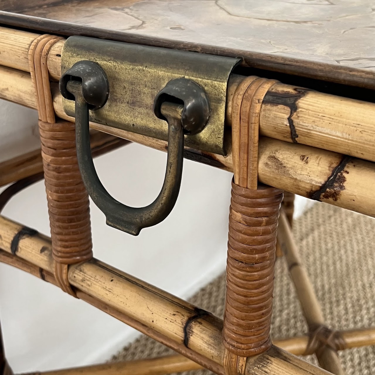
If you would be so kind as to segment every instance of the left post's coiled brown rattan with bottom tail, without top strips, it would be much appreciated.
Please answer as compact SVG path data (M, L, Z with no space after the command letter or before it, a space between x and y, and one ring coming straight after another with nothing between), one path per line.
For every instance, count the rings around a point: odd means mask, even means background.
M93 256L89 195L75 155L75 126L67 121L39 121L39 128L54 275L65 292L75 295L68 281L68 265Z

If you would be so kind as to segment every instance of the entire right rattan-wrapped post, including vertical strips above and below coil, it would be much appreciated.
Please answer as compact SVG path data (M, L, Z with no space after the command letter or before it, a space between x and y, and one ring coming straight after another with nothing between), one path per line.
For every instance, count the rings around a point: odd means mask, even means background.
M258 185L259 114L276 81L248 77L232 102L233 169L223 325L226 374L271 346L270 326L280 189Z

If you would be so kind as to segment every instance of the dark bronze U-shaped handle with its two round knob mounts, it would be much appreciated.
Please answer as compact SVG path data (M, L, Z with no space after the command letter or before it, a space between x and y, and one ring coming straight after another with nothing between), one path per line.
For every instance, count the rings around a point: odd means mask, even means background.
M82 63L87 62L77 64ZM91 66L92 64L97 65L90 62ZM168 122L168 157L164 183L159 195L151 204L146 207L130 207L117 201L107 192L96 173L91 155L89 106L94 106L93 109L95 109L104 105L103 98L106 101L108 97L108 93L107 95L103 94L105 83L94 83L94 89L101 87L101 98L95 99L95 95L91 91L92 88L88 87L91 86L90 80L86 82L86 79L80 76L78 77L82 81L74 80L74 77L77 77L77 71L74 71L74 68L75 66L63 75L60 81L60 90L68 99L72 99L69 94L75 98L77 159L83 182L95 204L105 214L107 224L136 236L142 228L156 225L164 220L174 207L181 184L184 133L196 134L207 124L210 116L207 96L198 84L185 78L170 81L156 96L155 114ZM92 66L92 68L96 71L100 66ZM85 71L85 69L81 68L81 71ZM101 71L101 74L104 72ZM88 93L90 93L89 97ZM178 95L178 93L183 93L183 95ZM174 96L176 94L178 96ZM194 99L197 95L198 100ZM163 102L165 99L170 100L171 97L182 100L184 106Z

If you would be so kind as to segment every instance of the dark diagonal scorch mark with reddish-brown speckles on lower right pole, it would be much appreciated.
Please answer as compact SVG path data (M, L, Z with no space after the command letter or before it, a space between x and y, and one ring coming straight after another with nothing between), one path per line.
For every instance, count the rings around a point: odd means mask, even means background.
M345 181L347 179L344 174L348 174L349 172L344 170L344 168L351 159L351 156L343 155L339 164L333 168L327 181L318 190L310 192L308 197L315 201L321 201L324 198L333 199L337 202L341 192L345 190Z

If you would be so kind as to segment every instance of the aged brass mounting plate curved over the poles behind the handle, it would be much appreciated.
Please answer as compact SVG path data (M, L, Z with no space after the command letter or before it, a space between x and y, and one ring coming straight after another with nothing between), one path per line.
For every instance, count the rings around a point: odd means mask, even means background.
M185 136L185 145L225 154L227 83L240 59L83 36L66 40L61 59L62 73L78 61L91 60L107 75L108 101L99 110L90 111L90 121L164 141L168 139L168 124L153 112L155 96L175 78L195 81L207 93L211 115L201 133ZM63 107L74 117L74 101L63 98Z

